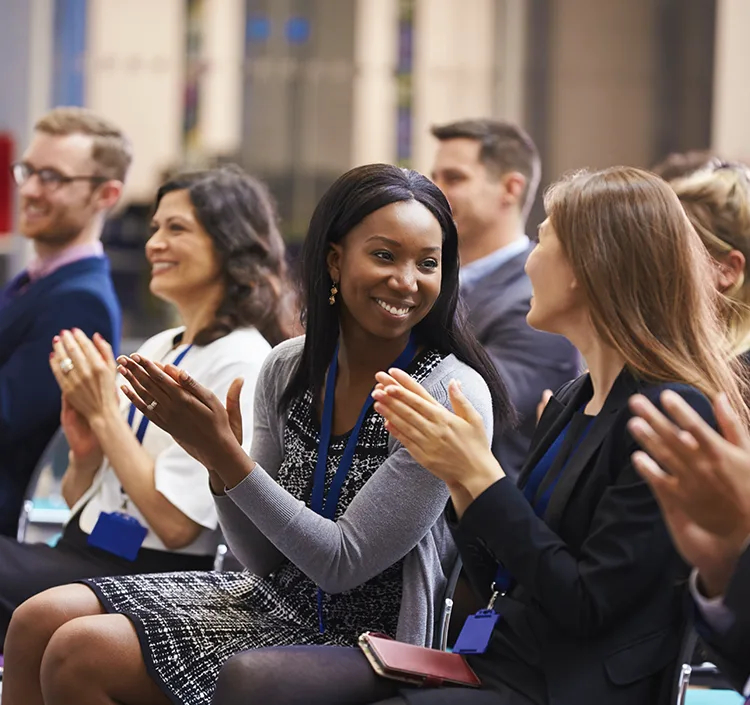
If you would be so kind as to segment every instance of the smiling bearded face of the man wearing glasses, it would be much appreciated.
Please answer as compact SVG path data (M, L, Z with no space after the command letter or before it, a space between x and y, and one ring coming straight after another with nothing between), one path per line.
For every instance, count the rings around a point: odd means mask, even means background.
M32 169L50 169L63 177L96 175L93 141L87 135L35 133L22 162ZM19 187L19 231L39 243L64 245L86 228L105 207L106 190L90 181L45 186L34 175Z

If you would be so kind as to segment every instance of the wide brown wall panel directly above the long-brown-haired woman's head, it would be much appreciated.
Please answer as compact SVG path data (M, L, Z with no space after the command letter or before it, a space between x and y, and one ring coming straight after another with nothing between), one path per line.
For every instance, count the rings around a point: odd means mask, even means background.
M648 165L655 114L654 3L553 0L550 7L545 181L581 167Z

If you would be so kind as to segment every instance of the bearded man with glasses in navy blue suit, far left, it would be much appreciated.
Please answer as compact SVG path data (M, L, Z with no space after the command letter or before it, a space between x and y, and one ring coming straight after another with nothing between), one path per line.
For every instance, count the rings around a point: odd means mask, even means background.
M0 534L16 535L29 479L59 425L52 338L80 328L117 347L120 307L100 237L131 159L128 139L109 121L57 108L12 167L19 231L35 256L0 292ZM69 373L72 363L63 362Z

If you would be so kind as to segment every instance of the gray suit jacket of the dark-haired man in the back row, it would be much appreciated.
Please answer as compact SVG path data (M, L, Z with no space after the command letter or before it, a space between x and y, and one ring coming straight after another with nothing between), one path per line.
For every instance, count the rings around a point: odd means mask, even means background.
M524 265L530 246L462 291L469 323L503 378L519 415L516 428L493 440L503 470L518 477L536 428L536 407L545 389L557 389L578 376L579 356L562 336L526 323L531 282Z

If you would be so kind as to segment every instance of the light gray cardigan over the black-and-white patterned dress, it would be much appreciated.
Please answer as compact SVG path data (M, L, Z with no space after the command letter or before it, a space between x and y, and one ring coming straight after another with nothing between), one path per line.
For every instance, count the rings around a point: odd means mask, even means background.
M286 423L278 412L279 399L303 345L302 337L278 345L261 369L251 450L257 465L226 495L216 497L226 541L252 573L265 577L287 559L331 594L357 587L405 557L396 638L431 646L447 575L457 558L443 519L445 485L392 437L388 459L337 521L316 514L275 481ZM492 401L477 372L449 355L424 386L449 406L451 379L460 380L491 439Z

